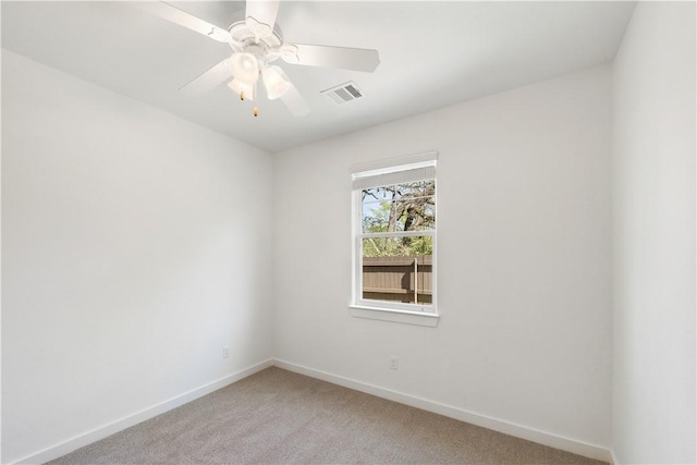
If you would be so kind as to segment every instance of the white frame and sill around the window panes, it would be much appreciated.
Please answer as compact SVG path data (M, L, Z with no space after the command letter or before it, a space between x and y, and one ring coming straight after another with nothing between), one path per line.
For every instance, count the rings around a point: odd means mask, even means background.
M438 325L438 291L437 291L437 231L438 211L436 211L436 229L427 231L396 231L389 233L363 232L363 201L362 192L365 186L391 185L420 179L436 179L437 151L428 151L391 160L383 160L371 164L354 167L352 170L352 303L351 314L354 317L370 318L383 321L395 321L418 326L435 327ZM419 172L424 178L419 178ZM415 179L418 178L418 179ZM438 185L438 181L437 185ZM436 187L436 196L438 187ZM438 199L436 199L438 210ZM364 237L403 237L431 236L433 237L433 254L431 256L432 302L428 305L404 304L400 302L374 301L363 298L363 238Z

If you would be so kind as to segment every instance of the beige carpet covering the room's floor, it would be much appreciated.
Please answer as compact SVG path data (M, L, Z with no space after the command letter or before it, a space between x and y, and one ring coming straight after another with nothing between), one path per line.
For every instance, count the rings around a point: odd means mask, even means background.
M600 464L268 368L51 464Z

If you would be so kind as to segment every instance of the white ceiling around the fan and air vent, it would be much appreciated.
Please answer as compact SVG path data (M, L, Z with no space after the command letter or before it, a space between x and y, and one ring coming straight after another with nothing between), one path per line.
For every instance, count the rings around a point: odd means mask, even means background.
M221 27L244 2L172 2ZM607 63L634 2L283 1L277 24L297 44L375 48L375 73L281 63L310 113L279 100L240 101L224 84L178 89L231 53L228 45L131 2L9 2L2 47L161 108L239 140L278 151L406 115ZM338 106L320 90L347 81L365 94Z

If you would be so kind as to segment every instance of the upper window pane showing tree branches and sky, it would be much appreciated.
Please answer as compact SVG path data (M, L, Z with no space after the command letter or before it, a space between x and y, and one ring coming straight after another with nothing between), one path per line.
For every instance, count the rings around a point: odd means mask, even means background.
M435 230L435 180L364 189L363 232Z

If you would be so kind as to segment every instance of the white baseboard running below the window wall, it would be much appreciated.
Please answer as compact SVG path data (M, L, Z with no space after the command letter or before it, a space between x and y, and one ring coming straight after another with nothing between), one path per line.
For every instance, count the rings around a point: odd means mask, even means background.
M378 386L368 384L365 382L356 381L342 376L332 375L326 371L316 370L313 368L304 367L301 365L292 364L290 362L274 359L273 365L279 368L294 371L301 375L306 375L311 378L328 381L333 384L343 386L345 388L354 389L356 391L372 394L378 397L387 399L390 401L399 402L401 404L409 405L412 407L420 408L427 412L432 412L439 415L443 415L450 418L454 418L461 421L466 421L472 425L481 426L484 428L492 429L494 431L503 432L505 435L514 436L516 438L526 439L528 441L537 442L538 444L548 445L550 448L560 449L562 451L571 452L574 454L583 455L585 457L595 458L603 462L611 462L614 457L611 452L599 445L589 444L583 441L577 441L570 438L564 438L558 435L540 431L535 428L529 428L522 425L516 425L510 421L492 418L486 415L467 412L462 408L453 407L450 405L441 404L438 402L429 401L427 399L417 397L402 392L392 391L390 389L380 388Z

